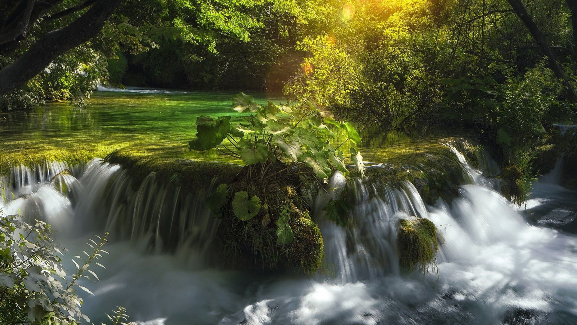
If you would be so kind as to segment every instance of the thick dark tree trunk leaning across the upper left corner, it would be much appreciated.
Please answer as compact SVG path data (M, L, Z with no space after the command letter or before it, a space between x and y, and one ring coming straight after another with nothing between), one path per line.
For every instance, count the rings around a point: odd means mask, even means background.
M96 36L121 1L97 0L70 25L44 34L23 56L0 70L0 94L21 86L58 56Z

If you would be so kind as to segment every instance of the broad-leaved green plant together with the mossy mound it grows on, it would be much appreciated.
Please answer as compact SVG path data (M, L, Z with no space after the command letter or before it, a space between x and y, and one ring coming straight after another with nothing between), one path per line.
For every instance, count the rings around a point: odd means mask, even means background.
M190 150L216 148L246 164L206 200L222 218L219 238L231 257L227 260L317 271L323 238L298 189L320 189L334 169L350 173L346 160L364 175L361 154L351 148L345 157L339 150L346 142L360 142L357 130L312 102L300 108L263 106L240 93L233 98L233 110L239 113L235 118L198 117L196 138L189 142Z

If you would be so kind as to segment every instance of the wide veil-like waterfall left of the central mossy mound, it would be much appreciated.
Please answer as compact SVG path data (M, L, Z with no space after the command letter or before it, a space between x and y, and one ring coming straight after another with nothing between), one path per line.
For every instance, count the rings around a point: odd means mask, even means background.
M77 165L20 165L2 180L5 213L47 221L68 236L108 231L110 238L148 243L156 252L185 246L206 252L218 227L219 219L204 205L210 186L189 193L178 179L164 184L151 173L135 189L121 166L98 158Z

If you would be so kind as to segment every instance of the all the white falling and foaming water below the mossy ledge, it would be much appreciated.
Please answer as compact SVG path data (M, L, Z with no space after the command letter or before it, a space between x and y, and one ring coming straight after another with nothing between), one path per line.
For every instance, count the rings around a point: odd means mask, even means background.
M202 204L204 191L183 193L153 176L134 190L121 167L102 160L14 167L2 180L10 191L0 208L53 224L71 255L89 236L111 232L107 269L83 284L95 294L84 295L83 306L94 323L122 305L147 325L577 324L577 236L531 226L459 158L473 184L451 204L425 205L408 182L381 193L351 184L358 227L317 220L329 275L311 277L209 267L218 220ZM70 175L59 174L65 169ZM536 185L527 210L552 195L575 196L550 186ZM322 204L317 198L317 210ZM399 272L395 224L407 215L432 220L443 237L438 269L425 275ZM163 253L167 247L177 250Z

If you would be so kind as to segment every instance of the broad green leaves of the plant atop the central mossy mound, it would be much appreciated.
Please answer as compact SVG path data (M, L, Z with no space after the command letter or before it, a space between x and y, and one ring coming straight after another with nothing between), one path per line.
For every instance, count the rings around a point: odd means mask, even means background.
M343 153L330 145L331 141L338 139L333 131L346 136L337 148L347 141L360 141L351 124L335 121L329 112L321 111L312 103L304 110L271 102L263 106L254 102L252 96L240 93L233 98L233 110L242 115L235 119L230 116L216 119L199 117L197 138L189 142L190 150L216 147L248 165L262 164L261 168L255 168L254 173L249 174L257 174L260 180L280 172L287 176L312 173L317 178L326 179L331 174L329 161L340 171L348 172ZM331 127L323 124L325 120ZM351 149L350 159L364 175L361 154ZM276 162L282 162L285 168L273 171L272 164Z

